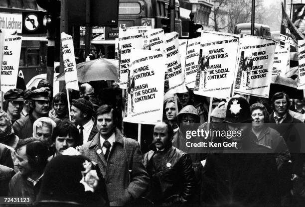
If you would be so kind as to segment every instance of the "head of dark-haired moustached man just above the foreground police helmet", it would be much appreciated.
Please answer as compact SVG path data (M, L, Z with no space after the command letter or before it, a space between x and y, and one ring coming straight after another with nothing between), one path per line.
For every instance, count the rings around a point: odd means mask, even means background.
M55 152L49 157L49 160L61 155L69 147L76 147L79 145L79 141L80 136L77 127L70 121L61 121L53 130L52 143L55 147Z

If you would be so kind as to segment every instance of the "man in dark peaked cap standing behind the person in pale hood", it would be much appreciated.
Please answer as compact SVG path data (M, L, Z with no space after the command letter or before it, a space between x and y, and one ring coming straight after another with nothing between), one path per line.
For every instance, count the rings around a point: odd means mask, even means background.
M29 93L28 99L30 100L29 115L16 120L13 124L15 134L19 139L31 137L33 134L33 123L40 117L48 117L49 114L49 98L48 91L44 88L33 90ZM50 117L55 122L59 119Z

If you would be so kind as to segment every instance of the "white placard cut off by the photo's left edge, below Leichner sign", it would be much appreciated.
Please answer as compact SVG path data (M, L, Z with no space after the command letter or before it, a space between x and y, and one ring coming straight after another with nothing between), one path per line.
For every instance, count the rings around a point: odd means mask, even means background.
M5 93L16 88L22 37L7 33L3 36L1 91Z

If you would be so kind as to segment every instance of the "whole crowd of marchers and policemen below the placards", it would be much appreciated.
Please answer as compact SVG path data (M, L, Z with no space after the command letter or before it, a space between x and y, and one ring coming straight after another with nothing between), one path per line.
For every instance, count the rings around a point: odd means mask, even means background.
M214 99L207 123L209 98L190 89L167 92L163 120L145 132L151 144L141 150L121 131L119 88L82 84L70 106L65 93L52 91L41 80L37 88L4 94L0 196L30 197L23 205L36 207L305 205L304 137L297 129L305 120L303 99L282 92L251 104L240 95ZM186 130L194 126L241 136L228 139L236 142L230 147L192 152Z

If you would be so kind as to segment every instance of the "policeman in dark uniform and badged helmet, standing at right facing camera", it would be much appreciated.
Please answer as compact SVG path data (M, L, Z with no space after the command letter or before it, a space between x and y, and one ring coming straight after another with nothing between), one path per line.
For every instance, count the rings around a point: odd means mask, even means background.
M218 140L221 146L211 147L214 153L206 158L201 204L278 207L276 159L267 153L270 148L255 142L249 103L234 96L228 102L224 122L219 130L226 131L227 136L213 137L213 142Z

